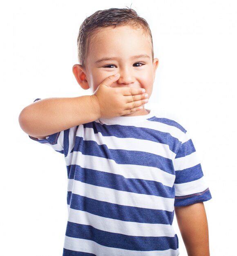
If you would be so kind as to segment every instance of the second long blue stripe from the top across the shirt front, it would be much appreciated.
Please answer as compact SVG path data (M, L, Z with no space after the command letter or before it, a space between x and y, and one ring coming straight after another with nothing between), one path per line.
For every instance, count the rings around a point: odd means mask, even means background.
M83 141L82 137L76 137L74 151L80 151L83 155L112 159L117 164L152 166L167 173L174 174L174 166L171 159L152 153L133 150L109 149L105 144L98 145L96 141Z

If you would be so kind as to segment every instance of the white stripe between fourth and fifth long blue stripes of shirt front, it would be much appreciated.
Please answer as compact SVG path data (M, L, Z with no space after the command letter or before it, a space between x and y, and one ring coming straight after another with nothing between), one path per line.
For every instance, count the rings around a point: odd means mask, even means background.
M71 208L69 209L68 221L127 236L174 237L175 235L171 225L115 220Z

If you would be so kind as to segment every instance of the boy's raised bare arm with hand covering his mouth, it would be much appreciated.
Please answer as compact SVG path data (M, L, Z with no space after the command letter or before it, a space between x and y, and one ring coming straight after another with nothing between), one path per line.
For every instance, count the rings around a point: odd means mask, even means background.
M22 130L32 137L42 138L101 117L111 118L141 110L145 103L143 89L111 88L118 78L109 76L91 96L36 101L20 113Z

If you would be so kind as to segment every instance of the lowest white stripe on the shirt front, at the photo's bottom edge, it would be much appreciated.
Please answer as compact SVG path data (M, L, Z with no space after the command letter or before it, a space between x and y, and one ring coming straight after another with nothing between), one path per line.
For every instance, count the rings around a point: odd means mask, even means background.
M165 251L131 251L119 248L106 247L98 243L80 238L65 236L64 248L76 251L86 252L100 256L178 256L179 250L168 249Z

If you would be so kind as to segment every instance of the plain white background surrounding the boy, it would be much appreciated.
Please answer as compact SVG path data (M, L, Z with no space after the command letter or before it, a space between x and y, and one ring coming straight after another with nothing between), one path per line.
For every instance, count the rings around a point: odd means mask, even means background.
M98 9L132 4L150 24L160 61L148 108L172 113L191 132L213 197L205 203L210 252L232 256L237 228L237 5L234 0L116 2L0 4L1 255L62 254L67 222L63 155L31 141L20 129L18 115L36 98L89 94L72 74L80 24ZM180 235L179 240L180 255L186 256Z

